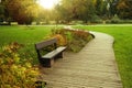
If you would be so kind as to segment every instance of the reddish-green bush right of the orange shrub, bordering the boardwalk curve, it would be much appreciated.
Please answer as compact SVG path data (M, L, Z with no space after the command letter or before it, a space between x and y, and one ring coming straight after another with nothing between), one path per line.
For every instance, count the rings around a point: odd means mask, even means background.
M81 30L70 32L72 40L68 42L68 50L73 52L79 52L92 38L89 32Z

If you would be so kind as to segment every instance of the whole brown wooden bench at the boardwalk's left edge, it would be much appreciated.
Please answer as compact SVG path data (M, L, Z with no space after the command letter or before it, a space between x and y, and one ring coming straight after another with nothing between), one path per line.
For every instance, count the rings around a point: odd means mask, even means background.
M63 52L66 50L66 46L57 47L57 40L52 38L41 43L35 44L35 50L37 53L37 58L42 66L51 67L56 58L63 58ZM53 47L53 51L44 50L45 47ZM44 55L41 54L42 51L48 52Z

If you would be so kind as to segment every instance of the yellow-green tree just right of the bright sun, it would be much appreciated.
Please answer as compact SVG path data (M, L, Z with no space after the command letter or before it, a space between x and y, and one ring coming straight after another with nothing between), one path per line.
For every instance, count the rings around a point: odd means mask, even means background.
M61 4L56 6L59 18L67 22L72 20L82 20L87 22L92 20L95 14L94 1L91 0L62 0Z

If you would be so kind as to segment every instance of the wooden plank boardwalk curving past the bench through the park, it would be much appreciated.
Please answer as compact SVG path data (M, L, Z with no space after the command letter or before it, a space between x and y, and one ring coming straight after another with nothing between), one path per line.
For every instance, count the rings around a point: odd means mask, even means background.
M92 32L79 53L65 53L52 68L42 68L46 88L122 88L112 48L113 37Z

